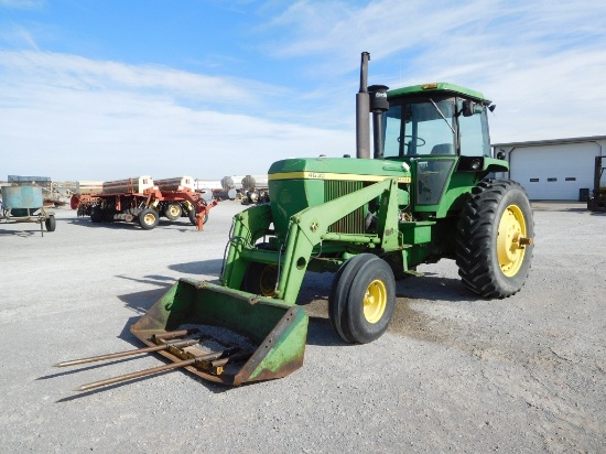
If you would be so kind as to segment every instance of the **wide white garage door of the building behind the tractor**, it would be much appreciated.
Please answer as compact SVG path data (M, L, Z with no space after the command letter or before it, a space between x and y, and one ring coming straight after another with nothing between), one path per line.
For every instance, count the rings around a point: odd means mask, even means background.
M520 147L509 154L510 177L532 201L578 201L578 190L593 187L597 143Z

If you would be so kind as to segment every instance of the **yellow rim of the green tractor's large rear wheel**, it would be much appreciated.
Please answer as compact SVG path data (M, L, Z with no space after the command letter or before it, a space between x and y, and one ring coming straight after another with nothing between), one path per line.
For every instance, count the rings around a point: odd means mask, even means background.
M524 260L526 219L518 205L509 205L499 223L497 253L501 271L511 278L520 271Z

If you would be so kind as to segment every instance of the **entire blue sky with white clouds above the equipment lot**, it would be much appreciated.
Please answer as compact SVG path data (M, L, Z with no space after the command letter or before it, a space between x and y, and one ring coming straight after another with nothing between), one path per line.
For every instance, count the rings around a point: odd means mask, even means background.
M355 154L362 51L370 84L484 93L493 142L606 134L606 2L0 0L0 180Z

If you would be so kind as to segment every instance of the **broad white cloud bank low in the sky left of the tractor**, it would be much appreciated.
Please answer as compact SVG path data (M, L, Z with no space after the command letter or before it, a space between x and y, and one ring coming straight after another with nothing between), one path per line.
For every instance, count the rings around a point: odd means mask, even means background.
M262 174L310 150L351 152L354 143L347 133L236 114L256 102L247 90L261 86L255 83L35 52L0 53L0 68L7 174L218 179ZM188 96L207 106L181 102ZM219 111L226 99L236 105L231 112Z

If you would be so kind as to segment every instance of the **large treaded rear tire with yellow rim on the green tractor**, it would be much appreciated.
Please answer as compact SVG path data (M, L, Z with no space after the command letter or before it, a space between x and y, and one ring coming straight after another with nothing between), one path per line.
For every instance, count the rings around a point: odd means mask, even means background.
M456 263L465 287L484 298L519 292L530 271L533 237L522 186L511 180L480 182L457 224Z

